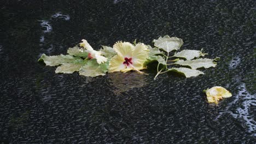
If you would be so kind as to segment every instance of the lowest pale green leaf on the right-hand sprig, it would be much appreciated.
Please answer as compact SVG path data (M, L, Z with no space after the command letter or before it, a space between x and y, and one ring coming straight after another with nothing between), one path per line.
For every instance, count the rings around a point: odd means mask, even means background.
M171 69L168 69L168 71L174 71L176 73L184 75L185 77L198 76L201 74L203 75L202 71L189 69L189 68L171 68Z

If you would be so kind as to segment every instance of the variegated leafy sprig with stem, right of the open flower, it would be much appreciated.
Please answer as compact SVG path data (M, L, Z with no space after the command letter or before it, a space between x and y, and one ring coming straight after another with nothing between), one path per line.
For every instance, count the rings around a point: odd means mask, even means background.
M170 38L168 35L160 37L157 40L154 39L153 42L155 47L152 48L149 46L150 56L144 65L149 65L149 63L155 61L158 62L156 67L157 73L154 80L160 74L167 73L168 71L182 74L185 77L204 74L197 69L216 67L216 61L219 59L201 58L207 55L207 53L203 53L202 50L182 50L170 56L171 51L177 51L181 48L183 41L179 38Z

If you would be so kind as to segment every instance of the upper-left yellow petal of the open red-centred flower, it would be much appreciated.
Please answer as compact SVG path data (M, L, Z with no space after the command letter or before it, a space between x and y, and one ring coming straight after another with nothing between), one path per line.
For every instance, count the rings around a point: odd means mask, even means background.
M113 49L122 57L131 57L134 46L131 43L118 41L114 44Z

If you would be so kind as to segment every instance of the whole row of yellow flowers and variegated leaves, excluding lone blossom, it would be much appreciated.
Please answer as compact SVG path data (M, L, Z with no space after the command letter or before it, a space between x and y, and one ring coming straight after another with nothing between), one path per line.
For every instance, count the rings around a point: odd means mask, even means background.
M114 73L121 71L136 71L144 74L144 69L154 69L157 71L155 78L159 74L172 71L182 74L185 77L198 76L203 74L198 68L216 67L215 59L202 58L207 53L202 50L182 50L182 39L169 37L159 37L154 39L154 47L143 43L131 44L118 41L113 47L102 46L101 50L94 50L86 40L82 40L79 46L74 46L67 50L67 55L46 56L43 54L38 61L43 61L46 65L59 66L55 73L71 74L79 71L84 76L105 75L106 72Z

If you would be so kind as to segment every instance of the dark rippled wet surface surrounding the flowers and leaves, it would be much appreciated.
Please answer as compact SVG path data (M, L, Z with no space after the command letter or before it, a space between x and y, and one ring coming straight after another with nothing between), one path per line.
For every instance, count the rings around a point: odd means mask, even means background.
M1 1L0 143L254 143L255 4ZM182 50L220 57L217 67L153 81L154 74L55 74L37 63L81 39L100 49L118 40L152 45L167 34L183 39ZM233 97L208 104L202 90L212 86Z

